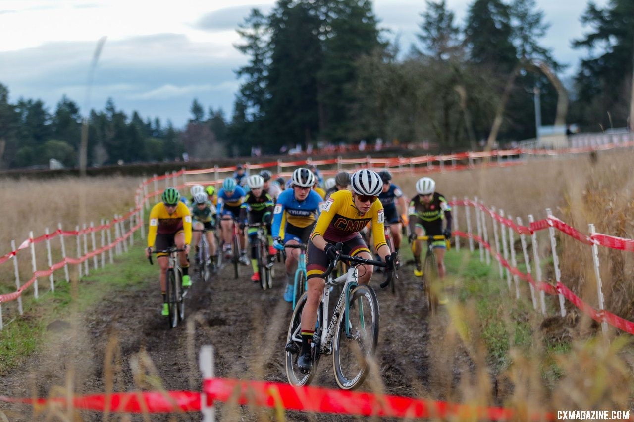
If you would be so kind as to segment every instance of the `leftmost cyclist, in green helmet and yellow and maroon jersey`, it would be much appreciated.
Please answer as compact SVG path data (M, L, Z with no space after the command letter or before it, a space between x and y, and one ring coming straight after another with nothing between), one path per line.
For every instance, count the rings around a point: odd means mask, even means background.
M190 209L181 201L181 194L174 188L165 189L161 198L163 201L154 205L150 211L148 248L145 250L145 256L150 257L153 248L165 250L170 246L176 245L177 248L183 249L183 252L179 252L181 267L183 268L183 287L190 287L191 279L188 274L190 264L187 260L191 244ZM167 298L165 297L167 255L165 253L157 253L157 262L159 262L160 266L160 291L163 295L161 314L167 316L169 314Z

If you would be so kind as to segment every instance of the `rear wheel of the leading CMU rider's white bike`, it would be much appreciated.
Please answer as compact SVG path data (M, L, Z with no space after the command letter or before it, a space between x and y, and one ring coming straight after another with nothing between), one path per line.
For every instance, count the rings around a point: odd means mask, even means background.
M313 369L308 373L303 373L301 369L297 366L297 358L299 358L299 352L302 348L302 335L301 335L301 325L302 325L302 310L304 310L304 305L306 304L306 300L308 298L307 293L304 293L301 298L299 298L299 302L297 302L297 306L293 311L293 315L290 318L290 324L288 324L288 333L286 338L286 347L285 347L285 360L284 366L286 369L286 378L290 385L295 385L297 387L302 387L303 385L309 385L314 378L316 373L317 364L319 362L319 342L316 342L312 347L313 352ZM321 305L320 305L321 309ZM321 337L321 316L322 312L318 312L317 314L317 328L315 329L315 335L313 339ZM313 340L315 342L315 340ZM289 345L294 347L294 350L289 350Z

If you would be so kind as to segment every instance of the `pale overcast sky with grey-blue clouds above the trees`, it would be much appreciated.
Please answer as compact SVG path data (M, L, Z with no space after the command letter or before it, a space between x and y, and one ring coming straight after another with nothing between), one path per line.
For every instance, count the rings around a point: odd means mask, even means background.
M473 0L447 0L462 25ZM256 3L257 2L257 3ZM583 51L570 47L581 37L579 16L587 0L537 0L550 23L541 44L555 60L571 65ZM595 0L604 6L607 0ZM103 110L108 97L128 115L171 119L183 127L194 98L233 112L239 86L234 70L246 63L233 44L237 24L251 8L268 13L275 0L181 0L171 7L139 0L0 0L0 83L10 101L42 99L50 112L63 94L86 108L86 82L96 42L107 35L89 98ZM375 0L380 27L399 35L404 51L416 42L424 0Z

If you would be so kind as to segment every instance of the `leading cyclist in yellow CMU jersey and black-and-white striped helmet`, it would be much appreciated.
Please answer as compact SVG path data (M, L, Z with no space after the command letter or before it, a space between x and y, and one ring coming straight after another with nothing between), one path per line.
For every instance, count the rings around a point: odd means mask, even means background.
M368 246L359 234L359 230L370 221L378 256L392 266L396 260L396 253L392 253L385 243L385 215L383 205L378 200L383 182L376 172L363 169L353 174L351 185L352 191L337 191L326 201L308 244L308 298L302 310L302 350L297 359L297 366L304 371L309 371L313 366L310 343L325 286L325 279L321 278L321 274L326 270L328 262L335 259L340 252L372 259ZM341 251L335 246L338 242L343 243ZM373 266L361 264L359 267L358 283L370 283Z

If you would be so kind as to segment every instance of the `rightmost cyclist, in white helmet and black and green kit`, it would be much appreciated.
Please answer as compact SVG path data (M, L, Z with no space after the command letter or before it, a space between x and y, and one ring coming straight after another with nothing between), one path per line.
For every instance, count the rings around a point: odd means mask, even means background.
M423 242L416 240L417 236L444 236L451 238L451 206L443 195L436 192L436 182L431 177L421 177L416 182L417 196L410 201L408 214L410 217L410 243L414 254L414 275L422 276L420 264L420 252L423 250ZM444 224L443 229L443 222ZM438 276L444 278L444 252L446 241L432 241L434 254L438 262ZM441 298L446 302L446 298Z

